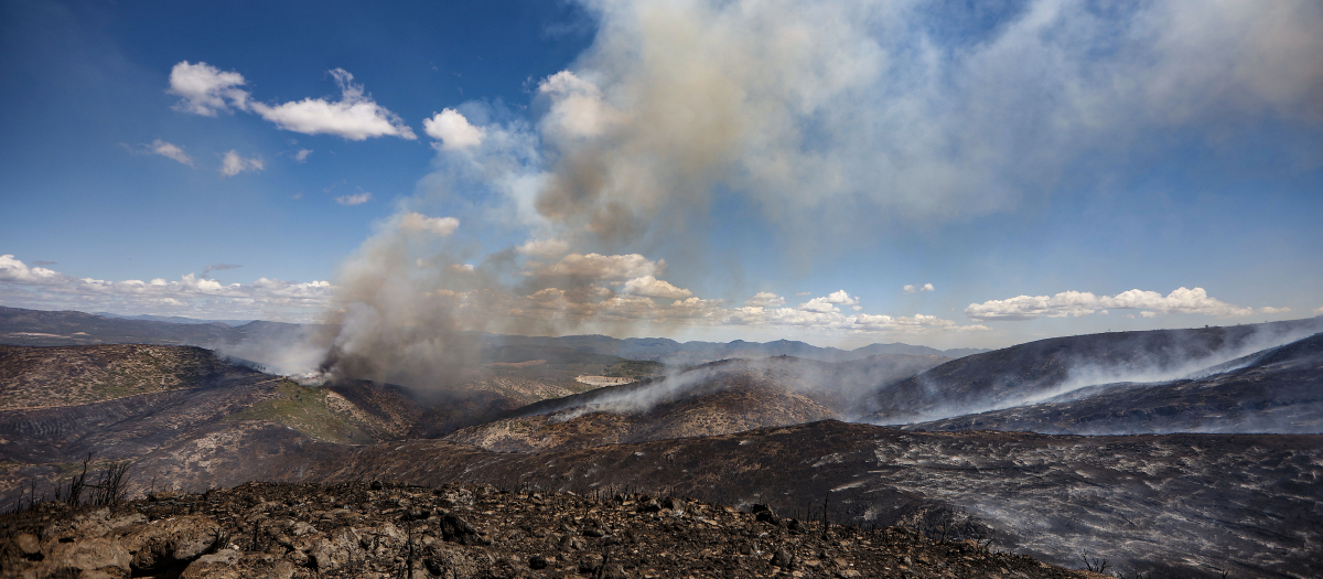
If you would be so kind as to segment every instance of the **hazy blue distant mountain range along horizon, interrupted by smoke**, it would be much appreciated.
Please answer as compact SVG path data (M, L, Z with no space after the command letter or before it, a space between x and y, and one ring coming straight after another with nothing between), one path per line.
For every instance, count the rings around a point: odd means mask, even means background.
M217 348L245 341L302 340L315 324L277 321L194 320L160 316L116 316L110 313L49 312L0 307L0 344L21 346L64 346L83 344L161 344ZM677 342L668 338L613 338L609 336L500 336L475 333L490 349L501 349L503 361L520 362L519 352L545 354L548 349L614 356L624 360L651 360L668 364L704 364L726 358L766 358L792 356L823 362L863 360L877 354L942 356L959 358L988 352L976 348L939 350L909 344L872 344L853 350L819 348L800 341L773 342ZM537 360L537 357L527 358ZM265 362L263 360L257 360Z

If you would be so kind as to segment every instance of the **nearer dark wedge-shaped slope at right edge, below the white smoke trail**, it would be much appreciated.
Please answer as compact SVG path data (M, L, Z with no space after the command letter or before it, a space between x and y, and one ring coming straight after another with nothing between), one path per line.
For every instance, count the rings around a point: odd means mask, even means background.
M1201 370L1196 373L1201 377L1192 379L1090 386L1040 405L906 428L1046 434L1323 432L1323 333L1220 366Z

